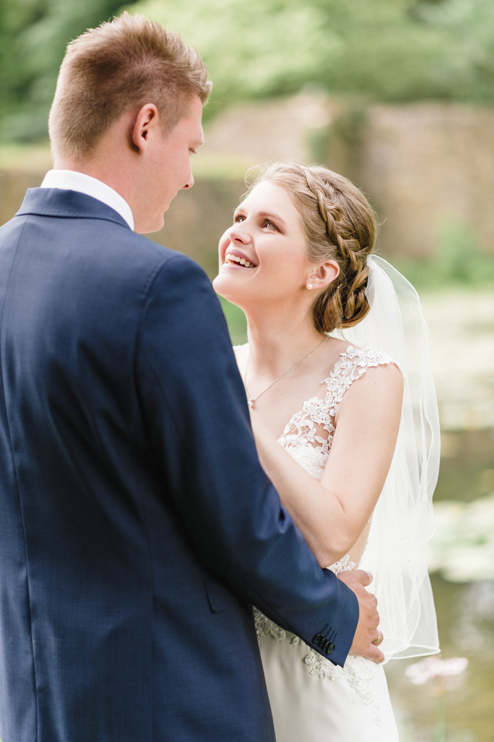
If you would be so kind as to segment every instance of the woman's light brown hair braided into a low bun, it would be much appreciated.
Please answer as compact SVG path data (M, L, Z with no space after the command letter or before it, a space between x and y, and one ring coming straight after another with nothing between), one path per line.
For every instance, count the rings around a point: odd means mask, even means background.
M338 278L313 304L314 326L318 332L332 332L358 324L370 309L367 255L377 234L370 203L350 180L322 165L276 162L261 171L247 192L264 180L290 194L301 215L310 263L336 260L340 267Z

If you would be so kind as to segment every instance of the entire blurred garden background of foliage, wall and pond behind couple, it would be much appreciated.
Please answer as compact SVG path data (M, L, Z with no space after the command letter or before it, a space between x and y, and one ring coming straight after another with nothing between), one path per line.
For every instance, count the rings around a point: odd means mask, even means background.
M494 0L0 0L0 224L51 167L67 43L124 7L180 30L213 80L196 183L152 239L213 278L247 168L297 157L364 189L378 251L419 289L442 431L433 589L443 656L470 665L444 692L407 663L387 674L401 742L494 742Z

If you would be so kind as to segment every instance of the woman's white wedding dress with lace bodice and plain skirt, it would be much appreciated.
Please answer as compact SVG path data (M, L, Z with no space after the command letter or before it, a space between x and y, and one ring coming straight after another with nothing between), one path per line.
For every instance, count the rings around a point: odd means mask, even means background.
M389 356L349 346L336 362L324 399L305 402L279 439L290 456L321 479L335 432L334 419L347 389L367 368L393 363ZM356 569L347 554L330 569ZM348 656L333 665L302 640L255 610L276 742L398 742L381 665Z

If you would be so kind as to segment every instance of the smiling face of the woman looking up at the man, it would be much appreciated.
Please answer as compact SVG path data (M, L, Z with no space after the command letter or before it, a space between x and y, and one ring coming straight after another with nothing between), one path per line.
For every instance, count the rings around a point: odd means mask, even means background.
M221 237L214 289L244 309L253 302L307 294L314 266L305 246L301 217L287 191L270 181L259 183Z

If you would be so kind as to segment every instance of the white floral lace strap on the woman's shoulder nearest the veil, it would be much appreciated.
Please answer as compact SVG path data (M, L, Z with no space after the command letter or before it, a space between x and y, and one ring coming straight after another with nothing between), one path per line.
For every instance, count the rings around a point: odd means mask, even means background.
M399 364L393 361L386 353L378 350L360 349L356 350L349 345L344 353L341 353L339 361L336 361L329 378L322 382L326 384L326 403L328 413L334 417L344 393L351 387L354 381L360 378L370 367Z

